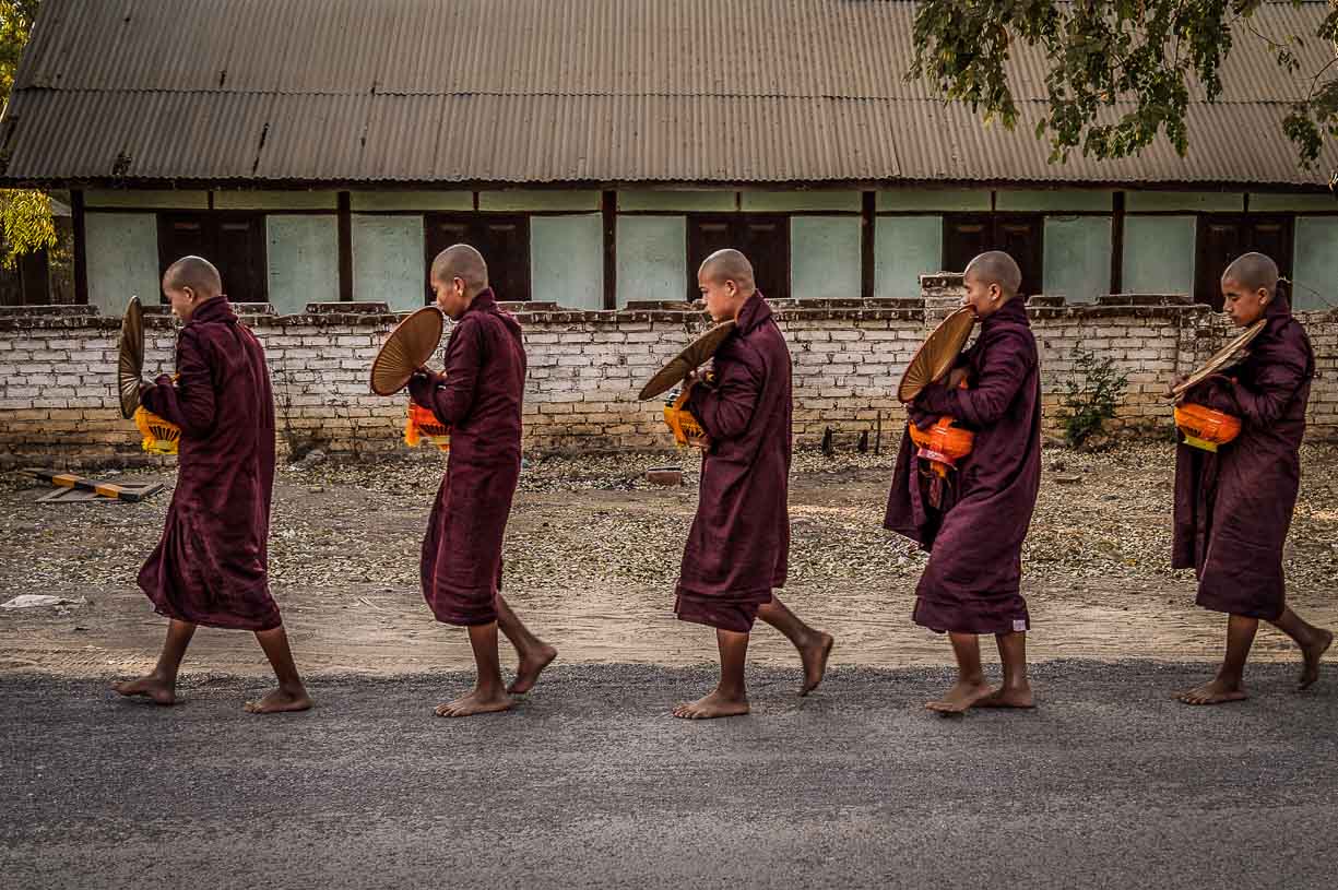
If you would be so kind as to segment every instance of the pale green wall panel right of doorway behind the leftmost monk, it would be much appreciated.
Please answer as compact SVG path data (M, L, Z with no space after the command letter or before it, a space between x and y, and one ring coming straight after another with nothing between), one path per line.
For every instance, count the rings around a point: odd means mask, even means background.
M269 301L280 315L339 300L339 221L333 214L265 218Z

